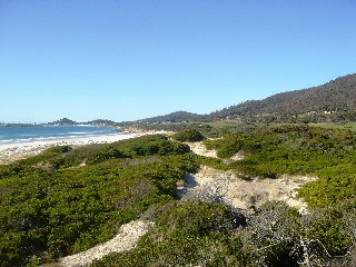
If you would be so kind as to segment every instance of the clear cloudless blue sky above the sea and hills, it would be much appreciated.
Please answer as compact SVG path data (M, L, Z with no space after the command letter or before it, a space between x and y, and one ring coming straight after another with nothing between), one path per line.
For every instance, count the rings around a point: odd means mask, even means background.
M0 121L208 113L356 72L355 0L0 0Z

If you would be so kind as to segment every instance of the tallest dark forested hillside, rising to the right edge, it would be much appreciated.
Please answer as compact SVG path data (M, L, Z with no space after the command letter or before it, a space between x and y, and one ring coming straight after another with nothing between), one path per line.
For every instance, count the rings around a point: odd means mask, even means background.
M239 118L254 122L317 122L356 120L356 73L325 85L249 100L211 112L206 120Z

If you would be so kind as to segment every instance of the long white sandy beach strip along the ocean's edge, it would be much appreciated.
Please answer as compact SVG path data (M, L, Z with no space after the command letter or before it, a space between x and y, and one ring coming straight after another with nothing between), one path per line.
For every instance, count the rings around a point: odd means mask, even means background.
M70 137L0 144L0 165L11 164L16 160L38 155L41 151L55 146L85 146L90 144L107 144L151 134L155 132L121 132L106 136Z

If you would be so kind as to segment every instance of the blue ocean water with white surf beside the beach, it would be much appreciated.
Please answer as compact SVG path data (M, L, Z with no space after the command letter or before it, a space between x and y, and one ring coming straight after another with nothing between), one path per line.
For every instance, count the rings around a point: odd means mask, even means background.
M117 134L115 128L93 126L0 127L0 144L34 141L63 137L103 136Z

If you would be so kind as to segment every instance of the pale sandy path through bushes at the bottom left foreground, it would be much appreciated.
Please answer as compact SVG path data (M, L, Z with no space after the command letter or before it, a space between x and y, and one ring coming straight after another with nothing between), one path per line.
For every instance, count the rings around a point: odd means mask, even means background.
M100 259L110 253L120 253L131 249L136 246L138 239L148 231L151 225L152 222L147 220L134 220L122 225L117 236L111 240L92 247L83 253L61 258L59 259L59 264L62 267L86 266L92 260Z

